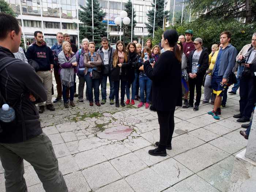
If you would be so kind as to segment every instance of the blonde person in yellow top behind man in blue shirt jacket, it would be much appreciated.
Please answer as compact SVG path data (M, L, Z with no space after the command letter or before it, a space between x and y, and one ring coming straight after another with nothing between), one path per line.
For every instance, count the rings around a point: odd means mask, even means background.
M215 95L211 89L211 71L214 67L215 61L217 59L217 55L219 53L218 44L213 44L211 46L212 52L209 54L209 68L206 71L205 81L204 81L204 99L202 103L208 103L211 98L211 103L214 104Z

